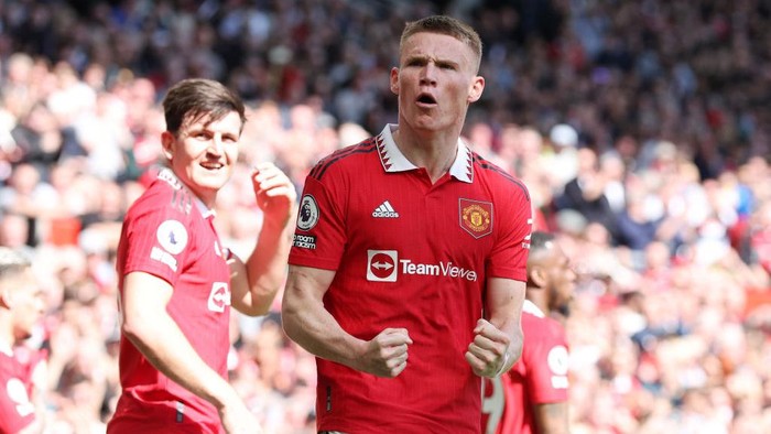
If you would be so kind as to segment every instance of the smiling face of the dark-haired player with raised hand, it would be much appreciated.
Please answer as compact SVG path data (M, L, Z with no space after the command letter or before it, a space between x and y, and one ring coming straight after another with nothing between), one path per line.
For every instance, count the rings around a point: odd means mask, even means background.
M240 134L241 118L231 111L216 120L188 117L176 134L164 131L161 140L174 174L213 207L238 160Z

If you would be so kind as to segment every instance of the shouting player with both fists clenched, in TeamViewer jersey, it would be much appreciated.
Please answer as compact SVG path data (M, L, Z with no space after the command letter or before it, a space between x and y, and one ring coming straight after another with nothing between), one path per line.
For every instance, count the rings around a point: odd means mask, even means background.
M408 23L399 124L305 181L282 312L317 356L322 432L478 433L480 377L520 356L531 204L460 139L480 57L465 23Z

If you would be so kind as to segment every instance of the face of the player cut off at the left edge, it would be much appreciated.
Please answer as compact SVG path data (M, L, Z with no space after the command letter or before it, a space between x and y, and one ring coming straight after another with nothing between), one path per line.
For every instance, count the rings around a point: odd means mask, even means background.
M4 307L10 308L13 324L13 338L26 339L43 316L45 300L32 269L9 275L0 283Z

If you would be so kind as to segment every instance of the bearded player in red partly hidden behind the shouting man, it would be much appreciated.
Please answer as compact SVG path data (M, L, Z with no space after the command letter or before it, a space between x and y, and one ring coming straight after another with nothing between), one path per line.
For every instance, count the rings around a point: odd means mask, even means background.
M576 273L553 235L534 231L522 310L522 358L506 375L485 381L482 433L568 433L567 341L561 322Z

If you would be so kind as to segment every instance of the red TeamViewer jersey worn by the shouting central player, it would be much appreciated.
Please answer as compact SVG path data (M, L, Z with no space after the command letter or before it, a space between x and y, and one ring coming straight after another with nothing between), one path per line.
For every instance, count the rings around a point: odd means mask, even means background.
M322 160L308 174L290 263L335 270L324 303L352 336L408 329L394 379L317 359L319 430L479 431L480 379L464 354L488 278L525 280L526 188L458 142L432 184L391 135L395 126Z

